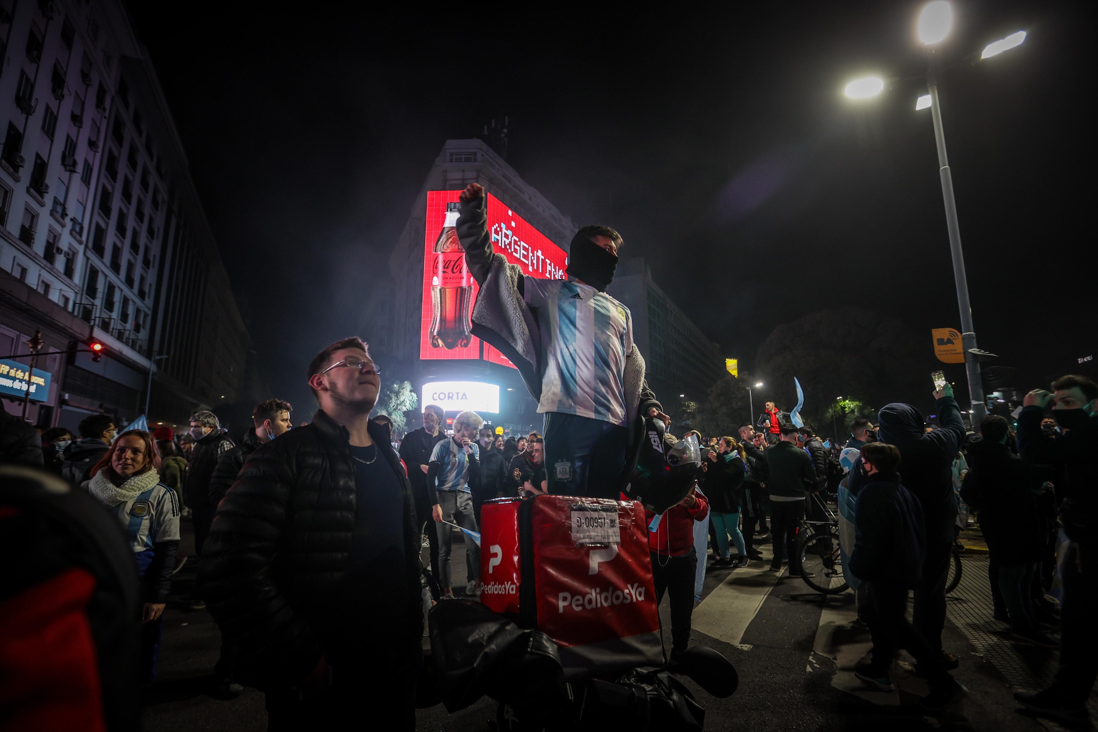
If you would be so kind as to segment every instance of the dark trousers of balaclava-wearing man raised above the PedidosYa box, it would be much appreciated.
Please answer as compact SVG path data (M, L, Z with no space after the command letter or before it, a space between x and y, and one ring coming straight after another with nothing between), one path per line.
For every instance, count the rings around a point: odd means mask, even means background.
M549 493L617 499L628 460L628 427L547 412L545 430Z

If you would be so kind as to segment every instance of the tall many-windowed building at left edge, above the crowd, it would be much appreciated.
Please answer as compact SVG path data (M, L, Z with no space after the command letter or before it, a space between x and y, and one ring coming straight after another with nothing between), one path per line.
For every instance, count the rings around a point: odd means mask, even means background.
M244 388L248 334L122 2L0 2L0 397L76 430L186 423ZM25 372L27 340L43 356ZM102 358L86 352L103 345ZM13 402L15 404L13 404Z

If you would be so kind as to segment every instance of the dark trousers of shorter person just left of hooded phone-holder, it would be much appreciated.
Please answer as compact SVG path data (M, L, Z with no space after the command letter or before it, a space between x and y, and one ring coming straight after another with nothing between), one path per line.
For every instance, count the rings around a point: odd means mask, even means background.
M931 647L928 640L907 621L907 587L899 585L883 585L877 582L864 582L866 596L872 607L873 622L870 623L870 634L873 637L874 671L885 674L892 667L896 651L907 649L915 656L919 666L927 672L927 680L931 688L950 680L942 665L942 654Z

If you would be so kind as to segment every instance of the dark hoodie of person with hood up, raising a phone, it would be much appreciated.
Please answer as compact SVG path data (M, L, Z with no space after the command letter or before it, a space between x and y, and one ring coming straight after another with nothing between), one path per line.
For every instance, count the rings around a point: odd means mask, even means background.
M928 551L953 542L957 504L951 466L965 435L952 396L938 399L937 409L941 428L931 432L922 431L922 414L910 404L888 404L877 415L881 441L899 449L904 487L922 506Z

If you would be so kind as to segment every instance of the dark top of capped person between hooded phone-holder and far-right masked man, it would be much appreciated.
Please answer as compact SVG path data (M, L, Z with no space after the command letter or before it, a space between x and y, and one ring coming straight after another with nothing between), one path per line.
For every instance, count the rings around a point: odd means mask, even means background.
M981 437L970 442L961 497L979 511L993 561L1010 566L1044 559L1051 527L1038 495L1052 475L1051 468L1022 462L1001 442Z

